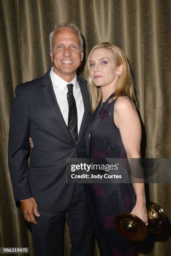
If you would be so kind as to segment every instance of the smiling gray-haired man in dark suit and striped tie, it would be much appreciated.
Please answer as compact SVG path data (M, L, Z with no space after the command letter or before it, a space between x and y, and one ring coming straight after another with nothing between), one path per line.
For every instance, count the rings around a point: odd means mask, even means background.
M61 256L64 220L72 256L92 255L92 230L82 184L66 184L66 158L84 158L89 115L86 80L77 77L83 41L74 23L50 34L54 67L15 90L10 118L9 169L15 200L32 224L36 256ZM28 167L29 135L34 148Z

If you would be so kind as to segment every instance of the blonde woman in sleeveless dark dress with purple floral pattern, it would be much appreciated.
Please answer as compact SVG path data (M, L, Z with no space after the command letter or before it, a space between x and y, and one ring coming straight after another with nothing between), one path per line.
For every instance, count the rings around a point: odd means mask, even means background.
M141 125L130 66L114 44L93 47L87 61L92 118L86 136L89 158L140 158ZM137 215L147 225L143 183L84 184L101 256L135 255L131 241L113 227L119 212Z

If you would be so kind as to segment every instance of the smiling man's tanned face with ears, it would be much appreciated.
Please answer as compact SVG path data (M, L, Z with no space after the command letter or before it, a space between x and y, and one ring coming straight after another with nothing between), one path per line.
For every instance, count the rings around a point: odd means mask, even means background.
M71 82L83 59L77 32L71 28L60 28L54 34L52 46L53 53L50 55L54 72L66 82Z

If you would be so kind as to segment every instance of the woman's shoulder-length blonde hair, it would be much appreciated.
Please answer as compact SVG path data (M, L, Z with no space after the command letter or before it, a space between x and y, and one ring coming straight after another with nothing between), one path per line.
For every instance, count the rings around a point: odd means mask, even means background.
M115 46L115 44L110 44L108 42L100 43L93 47L93 49L89 53L88 60L87 60L87 80L88 80L88 90L90 95L92 113L94 113L95 109L97 108L97 105L102 100L102 92L100 87L95 86L95 84L92 82L92 78L89 75L89 68L90 68L89 59L92 52L95 49L99 49L99 48L110 49L113 52L116 66L119 67L121 64L123 65L122 74L120 76L117 76L117 79L116 79L115 97L112 97L112 99L110 99L109 102L112 102L113 100L115 100L117 97L120 97L121 95L127 95L132 100L135 100L133 77L130 71L130 64L124 52L119 47Z

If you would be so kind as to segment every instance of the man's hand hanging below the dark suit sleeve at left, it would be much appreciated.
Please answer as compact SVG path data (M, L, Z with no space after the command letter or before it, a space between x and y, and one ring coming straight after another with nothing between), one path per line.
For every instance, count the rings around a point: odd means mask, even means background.
M20 202L20 204L25 220L30 223L37 224L33 212L37 217L40 217L40 214L38 213L37 204L34 197L23 200Z

